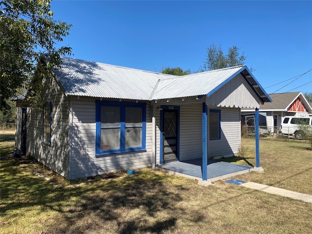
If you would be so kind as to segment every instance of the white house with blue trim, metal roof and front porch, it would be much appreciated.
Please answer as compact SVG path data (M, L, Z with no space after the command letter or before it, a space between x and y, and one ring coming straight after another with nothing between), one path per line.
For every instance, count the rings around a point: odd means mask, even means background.
M17 100L16 147L69 179L233 156L240 108L271 101L244 65L176 77L62 61L42 110Z

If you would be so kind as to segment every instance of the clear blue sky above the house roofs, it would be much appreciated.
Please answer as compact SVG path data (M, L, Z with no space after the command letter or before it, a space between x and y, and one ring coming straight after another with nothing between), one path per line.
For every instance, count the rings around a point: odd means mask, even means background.
M77 59L195 72L212 43L225 54L236 45L269 94L312 69L312 1L54 0L51 8L73 25L59 46ZM312 92L312 71L276 93L289 91Z

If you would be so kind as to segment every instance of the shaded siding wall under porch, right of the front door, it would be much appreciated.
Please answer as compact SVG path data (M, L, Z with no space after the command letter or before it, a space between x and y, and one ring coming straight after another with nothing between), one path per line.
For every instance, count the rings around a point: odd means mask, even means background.
M221 137L209 142L209 156L233 156L240 146L239 108L221 110ZM180 107L180 161L202 156L202 104Z

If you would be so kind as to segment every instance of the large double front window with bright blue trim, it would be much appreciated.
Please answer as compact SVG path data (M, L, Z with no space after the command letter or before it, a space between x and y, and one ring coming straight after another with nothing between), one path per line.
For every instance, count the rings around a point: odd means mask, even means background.
M96 154L145 150L146 103L97 101Z

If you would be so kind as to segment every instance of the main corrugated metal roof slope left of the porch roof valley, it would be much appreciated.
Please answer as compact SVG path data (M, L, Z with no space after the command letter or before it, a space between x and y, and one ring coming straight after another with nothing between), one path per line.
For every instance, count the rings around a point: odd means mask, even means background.
M159 78L171 75L62 58L56 77L67 95L149 100Z

